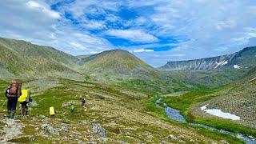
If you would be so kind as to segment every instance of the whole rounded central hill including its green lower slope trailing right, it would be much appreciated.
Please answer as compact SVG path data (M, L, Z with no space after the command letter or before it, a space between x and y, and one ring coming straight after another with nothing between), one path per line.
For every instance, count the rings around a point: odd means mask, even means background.
M108 50L83 58L82 71L93 78L111 82L151 96L159 93L198 89L200 85L170 78L126 50Z

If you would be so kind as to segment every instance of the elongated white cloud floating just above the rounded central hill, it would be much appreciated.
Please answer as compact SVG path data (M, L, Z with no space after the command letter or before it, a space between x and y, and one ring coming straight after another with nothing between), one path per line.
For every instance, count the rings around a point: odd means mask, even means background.
M142 30L107 30L107 35L128 39L132 42L157 42L158 38Z

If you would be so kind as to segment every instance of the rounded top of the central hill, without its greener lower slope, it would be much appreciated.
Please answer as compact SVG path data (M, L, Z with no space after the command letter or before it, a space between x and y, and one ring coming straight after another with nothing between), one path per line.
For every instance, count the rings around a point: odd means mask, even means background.
M84 62L82 70L90 74L108 75L111 78L149 78L157 74L153 67L126 50L108 50L81 61Z

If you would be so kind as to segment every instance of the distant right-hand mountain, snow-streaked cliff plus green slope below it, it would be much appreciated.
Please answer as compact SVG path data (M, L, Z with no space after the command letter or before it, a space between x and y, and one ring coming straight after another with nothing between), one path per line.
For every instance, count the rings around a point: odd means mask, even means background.
M235 82L256 66L256 47L247 47L234 54L198 60L168 62L159 70L172 78L206 86L223 86Z

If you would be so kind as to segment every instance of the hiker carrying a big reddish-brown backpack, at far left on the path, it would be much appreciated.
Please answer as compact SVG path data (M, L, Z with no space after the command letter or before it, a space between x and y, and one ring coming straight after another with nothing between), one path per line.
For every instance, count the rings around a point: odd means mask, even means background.
M18 98L22 95L22 84L12 81L6 90L8 118L14 118Z

